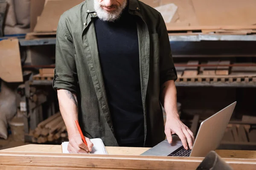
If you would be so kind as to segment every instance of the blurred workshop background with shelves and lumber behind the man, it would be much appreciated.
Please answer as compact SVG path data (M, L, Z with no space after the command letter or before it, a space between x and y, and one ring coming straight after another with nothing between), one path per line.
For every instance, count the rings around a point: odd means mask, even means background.
M61 14L82 1L0 0L0 149L67 141L52 89L55 37ZM255 150L256 0L141 1L165 20L181 120L196 134L237 101L218 148Z

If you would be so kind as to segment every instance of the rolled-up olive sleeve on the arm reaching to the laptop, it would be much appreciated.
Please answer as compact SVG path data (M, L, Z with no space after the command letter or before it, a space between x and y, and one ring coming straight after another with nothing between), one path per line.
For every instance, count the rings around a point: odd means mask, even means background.
M159 42L160 42L160 85L169 80L177 80L177 72L174 66L172 51L166 24L160 14L159 24Z

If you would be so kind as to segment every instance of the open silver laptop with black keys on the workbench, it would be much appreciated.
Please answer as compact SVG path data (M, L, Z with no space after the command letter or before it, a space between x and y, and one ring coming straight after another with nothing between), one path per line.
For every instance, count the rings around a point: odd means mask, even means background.
M145 151L144 156L192 156L205 157L211 150L215 150L221 143L227 125L235 109L236 102L233 102L226 108L218 111L214 115L201 122L198 129L192 150L184 149L180 138L172 135L172 143L167 139L156 146Z

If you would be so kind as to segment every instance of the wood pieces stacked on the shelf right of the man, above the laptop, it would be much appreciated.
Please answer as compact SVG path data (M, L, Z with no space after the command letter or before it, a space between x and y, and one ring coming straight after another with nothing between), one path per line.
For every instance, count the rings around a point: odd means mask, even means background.
M189 61L176 63L177 82L256 82L255 63L233 63L230 61Z

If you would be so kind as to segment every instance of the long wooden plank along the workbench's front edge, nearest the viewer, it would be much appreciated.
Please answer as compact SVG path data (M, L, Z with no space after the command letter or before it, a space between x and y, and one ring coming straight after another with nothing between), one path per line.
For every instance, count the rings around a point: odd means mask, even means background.
M17 166L123 170L195 170L204 158L167 156L114 156L65 153L5 153L0 152L2 166ZM19 161L17 161L19 160ZM223 159L234 170L254 170L256 161L251 159ZM171 168L171 169L170 169Z

